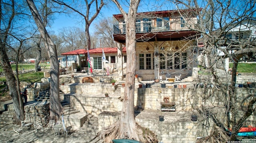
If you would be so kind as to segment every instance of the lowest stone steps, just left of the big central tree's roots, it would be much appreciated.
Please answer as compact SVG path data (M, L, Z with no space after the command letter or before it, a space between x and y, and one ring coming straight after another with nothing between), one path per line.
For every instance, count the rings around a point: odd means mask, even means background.
M80 128L78 132L97 135L99 131L98 126L98 118L94 117L91 114L88 114L86 121L84 122L83 126Z

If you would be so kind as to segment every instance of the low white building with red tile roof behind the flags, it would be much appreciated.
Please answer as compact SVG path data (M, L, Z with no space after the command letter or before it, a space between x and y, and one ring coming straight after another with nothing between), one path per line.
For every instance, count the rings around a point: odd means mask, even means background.
M109 63L103 62L102 60L103 51L106 56L106 60ZM93 70L104 70L106 68L109 68L111 72L117 71L118 70L117 59L118 57L121 57L121 55L117 55L117 51L118 51L117 47L90 49L89 55L90 55L90 61L92 63ZM78 50L70 51L67 53L62 53L61 55L64 56L61 60L62 67L66 67L66 68L72 67L72 71L79 67L80 70L88 71L88 62L87 62L88 51L87 50L78 49ZM125 47L123 48L123 53L122 53L122 63L123 63L123 68L125 68L126 67L126 48Z

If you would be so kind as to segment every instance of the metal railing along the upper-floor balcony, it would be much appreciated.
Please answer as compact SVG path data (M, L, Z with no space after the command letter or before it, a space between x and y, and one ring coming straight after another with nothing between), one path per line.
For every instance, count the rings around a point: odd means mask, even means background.
M183 21L162 21L162 22L139 22L135 24L136 33L180 31L190 30L197 24L197 20ZM114 25L114 34L125 34L126 24Z

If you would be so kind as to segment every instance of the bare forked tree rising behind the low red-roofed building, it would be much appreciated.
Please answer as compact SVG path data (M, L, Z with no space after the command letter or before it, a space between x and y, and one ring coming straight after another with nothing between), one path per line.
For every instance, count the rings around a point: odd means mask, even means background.
M53 2L56 2L60 5L66 6L67 8L73 10L80 16L84 18L85 21L85 37L87 40L87 47L90 49L91 46L91 40L90 40L90 33L89 33L89 27L92 24L92 21L98 16L100 13L101 8L104 6L103 0L100 0L100 3L98 3L98 0L91 0L88 2L88 0L84 0L85 4L83 2L74 1L74 2L64 2L65 0L52 0ZM95 12L92 12L91 8L96 8ZM84 12L84 9L86 9L86 12Z

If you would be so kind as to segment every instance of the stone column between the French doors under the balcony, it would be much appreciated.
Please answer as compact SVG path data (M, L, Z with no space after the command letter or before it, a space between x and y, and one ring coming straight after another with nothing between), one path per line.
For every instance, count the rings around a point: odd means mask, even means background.
M154 79L159 79L159 48L158 41L154 41Z

